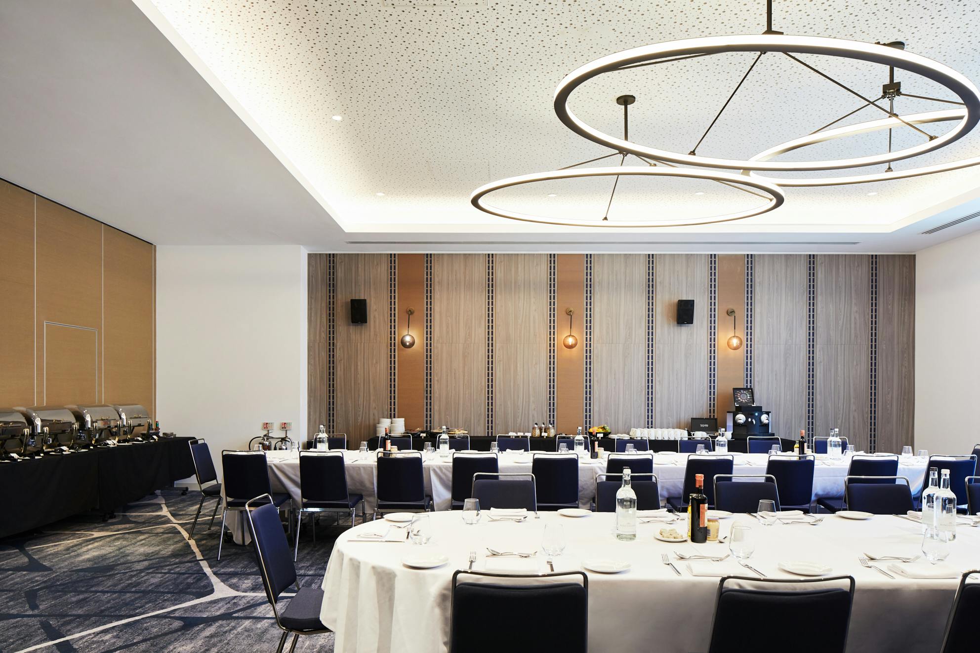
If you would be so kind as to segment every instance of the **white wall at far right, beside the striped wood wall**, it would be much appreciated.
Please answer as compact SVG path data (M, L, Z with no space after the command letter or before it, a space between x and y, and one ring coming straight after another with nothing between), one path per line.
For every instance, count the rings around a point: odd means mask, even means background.
M915 256L915 445L980 442L980 231Z

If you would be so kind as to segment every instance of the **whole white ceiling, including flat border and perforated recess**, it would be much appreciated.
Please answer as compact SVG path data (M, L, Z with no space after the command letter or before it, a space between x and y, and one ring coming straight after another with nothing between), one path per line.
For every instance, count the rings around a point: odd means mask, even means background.
M294 243L325 251L910 252L980 228L977 168L901 181L787 188L769 213L667 229L518 223L469 206L501 177L612 151L555 116L574 68L663 40L759 33L763 0L494 2L434 0L111 0L5 3L0 176L153 242ZM980 85L971 34L980 9L958 1L775 0L774 28L907 49ZM32 38L43 25L48 39ZM124 56L121 56L121 53ZM617 134L614 98L637 96L631 140L686 153L753 55L619 71L570 106ZM870 97L886 70L810 57ZM949 98L899 73L909 93ZM748 158L841 117L857 98L769 54L699 154ZM946 109L902 98L899 113ZM342 117L340 120L331 119ZM847 122L881 117L864 109ZM948 125L930 125L942 133ZM980 128L903 166L980 156ZM895 148L920 142L895 130ZM43 147L38 147L42 145ZM883 132L812 146L786 160L882 152ZM865 168L867 171L879 170ZM809 172L794 176L827 176ZM493 203L557 218L601 217L610 179L502 191ZM874 195L869 195L873 193ZM759 198L710 181L620 181L610 218L677 219L748 209Z

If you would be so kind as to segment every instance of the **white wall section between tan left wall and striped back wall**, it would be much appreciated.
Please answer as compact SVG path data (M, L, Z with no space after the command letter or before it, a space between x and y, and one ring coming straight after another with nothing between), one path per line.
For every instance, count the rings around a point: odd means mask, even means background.
M164 431L244 448L262 422L306 434L307 262L298 246L157 248Z

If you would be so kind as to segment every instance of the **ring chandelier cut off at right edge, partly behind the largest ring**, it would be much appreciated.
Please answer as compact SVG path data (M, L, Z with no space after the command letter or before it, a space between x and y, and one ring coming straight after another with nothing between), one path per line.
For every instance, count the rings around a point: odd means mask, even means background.
M922 114L909 114L907 116L902 116L901 119L897 117L886 117L879 120L868 120L867 122L858 122L857 124L852 124L846 127L838 127L836 129L828 129L827 131L820 131L816 133L809 134L808 136L803 136L801 138L795 138L791 141L786 141L780 145L769 148L760 152L758 155L753 157L750 161L768 161L774 157L778 157L781 154L786 154L787 152L792 152L794 150L799 150L800 148L805 148L809 145L814 145L816 143L822 143L825 141L833 140L836 138L845 138L847 136L855 136L857 134L863 134L871 131L881 131L884 129L892 129L894 127L903 126L903 124L926 124L930 122L945 122L949 120L958 120L966 115L963 109L951 109L947 111L934 111L925 112ZM815 186L844 186L847 184L866 184L872 181L891 181L893 179L907 179L908 177L918 177L926 174L934 174L936 172L948 172L950 170L958 170L964 167L970 167L971 165L980 164L980 157L972 157L970 159L961 159L959 161L951 163L937 163L934 165L922 165L919 167L911 167L906 170L886 170L884 172L872 172L867 174L857 174L848 175L840 177L820 177L820 178L809 178L809 179L794 179L794 178L776 178L769 177L765 175L760 175L758 172L746 170L746 172L755 178L765 179L778 184L781 187L796 187L796 188L809 188Z

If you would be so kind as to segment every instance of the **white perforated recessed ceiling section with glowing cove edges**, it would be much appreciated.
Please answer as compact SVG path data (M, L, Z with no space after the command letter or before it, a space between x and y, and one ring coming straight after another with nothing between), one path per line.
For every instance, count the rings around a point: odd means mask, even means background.
M567 72L630 47L758 34L765 28L764 0L153 1L339 211L348 230L380 224L411 229L421 223L438 230L439 224L461 222L519 230L513 222L473 210L469 193L496 178L609 152L574 135L555 116L553 93ZM904 40L908 51L980 81L975 39L980 2L774 4L773 26L786 33ZM613 100L623 93L636 95L638 101L630 108L632 140L686 153L753 58L750 53L719 55L605 74L576 91L571 108L594 126L619 133L621 109ZM808 61L869 97L878 97L887 80L887 69L881 66L827 57ZM949 95L921 77L902 72L899 77L907 92ZM768 54L698 152L748 158L860 104L786 57ZM900 99L896 108L913 113L949 105ZM847 122L881 116L864 109ZM933 125L935 133L949 126ZM896 147L917 142L910 130L897 130L895 138ZM882 132L814 146L787 158L853 157L886 148L887 134ZM895 167L978 155L980 133ZM829 174L835 173L822 176ZM977 169L966 169L871 185L792 188L782 208L748 221L812 223L828 229L880 226L972 189L978 176ZM737 210L746 198L752 200L716 184L706 191L685 180L644 181L624 185L611 217L626 219L644 207L664 216ZM601 215L608 200L604 188L601 183L569 183L560 192L502 192L495 201L510 203L510 209L559 214L591 214L594 206ZM867 196L872 191L878 195ZM555 198L547 197L553 193Z

